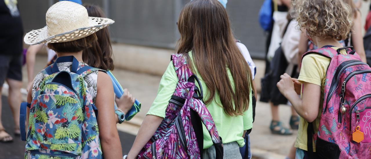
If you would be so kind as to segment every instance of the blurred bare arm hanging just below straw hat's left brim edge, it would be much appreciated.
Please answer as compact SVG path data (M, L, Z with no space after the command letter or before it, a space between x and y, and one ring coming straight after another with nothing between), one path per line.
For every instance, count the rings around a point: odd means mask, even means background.
M30 89L32 87L32 81L33 81L33 69L35 68L35 59L36 59L36 53L39 52L43 48L44 44L37 44L37 45L31 45L27 49L26 53L26 64L27 64L27 89Z

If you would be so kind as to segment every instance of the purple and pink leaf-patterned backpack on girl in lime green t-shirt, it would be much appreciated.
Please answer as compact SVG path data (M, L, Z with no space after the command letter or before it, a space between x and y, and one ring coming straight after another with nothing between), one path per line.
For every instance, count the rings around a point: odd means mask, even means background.
M171 59L179 82L166 108L164 120L139 153L138 158L201 158L203 123L213 140L216 158L222 159L222 141L213 118L203 103L200 81L188 67L184 54L173 54Z

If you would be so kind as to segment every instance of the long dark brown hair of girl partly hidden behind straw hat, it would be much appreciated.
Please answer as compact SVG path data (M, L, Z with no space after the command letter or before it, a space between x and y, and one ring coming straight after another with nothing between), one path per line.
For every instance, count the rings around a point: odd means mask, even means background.
M91 4L84 5L91 17L106 17L101 7ZM109 39L108 28L105 27L95 33L98 40L92 43L92 47L85 49L82 53L82 60L89 66L113 70L112 46Z

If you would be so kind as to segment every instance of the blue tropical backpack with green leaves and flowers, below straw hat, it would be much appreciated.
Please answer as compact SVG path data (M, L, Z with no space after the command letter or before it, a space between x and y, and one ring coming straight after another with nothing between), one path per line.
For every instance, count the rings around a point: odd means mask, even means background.
M57 63L72 62L71 72L59 71ZM102 158L96 107L84 77L104 71L79 65L73 56L58 58L42 72L44 80L32 103L22 103L21 138L26 141L25 158ZM27 136L26 107L30 108Z

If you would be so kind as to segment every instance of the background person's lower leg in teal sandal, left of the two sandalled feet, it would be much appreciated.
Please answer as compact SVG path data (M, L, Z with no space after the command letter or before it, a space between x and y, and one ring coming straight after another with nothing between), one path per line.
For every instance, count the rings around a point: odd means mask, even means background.
M270 123L270 131L273 134L280 134L280 135L290 135L292 134L292 130L285 128L282 126L282 123L279 119L279 110L278 106L275 106L272 102L270 104L270 110L272 113L272 121Z

